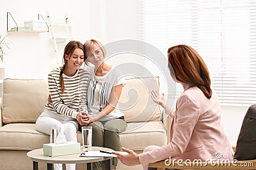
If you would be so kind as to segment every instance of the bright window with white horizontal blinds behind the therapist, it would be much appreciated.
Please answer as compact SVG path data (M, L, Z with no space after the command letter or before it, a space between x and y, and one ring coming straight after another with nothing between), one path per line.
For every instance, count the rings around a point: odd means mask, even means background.
M173 45L195 48L209 68L212 89L222 104L255 103L255 1L141 0L140 24L141 40L164 55ZM147 65L147 60L143 62ZM179 95L182 88L177 89Z

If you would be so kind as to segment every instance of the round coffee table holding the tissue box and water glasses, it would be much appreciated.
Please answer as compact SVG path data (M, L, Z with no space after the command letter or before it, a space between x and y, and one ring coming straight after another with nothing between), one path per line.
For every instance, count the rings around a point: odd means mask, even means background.
M108 152L113 152L109 148L92 146L92 150L104 150ZM83 146L81 146L81 153L83 152ZM38 170L38 162L47 163L47 169L52 170L53 164L87 164L87 169L92 169L92 162L99 162L106 160L108 164L108 169L112 169L112 158L113 157L80 157L81 153L62 155L58 157L45 156L43 148L31 150L27 153L30 160L33 161L33 170Z

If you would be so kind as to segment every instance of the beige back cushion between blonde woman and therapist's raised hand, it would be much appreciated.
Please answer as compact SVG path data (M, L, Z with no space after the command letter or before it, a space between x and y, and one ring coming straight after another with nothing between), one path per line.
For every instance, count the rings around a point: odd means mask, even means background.
M119 109L125 122L159 121L162 110L151 99L151 91L159 90L159 77L127 78L120 96Z

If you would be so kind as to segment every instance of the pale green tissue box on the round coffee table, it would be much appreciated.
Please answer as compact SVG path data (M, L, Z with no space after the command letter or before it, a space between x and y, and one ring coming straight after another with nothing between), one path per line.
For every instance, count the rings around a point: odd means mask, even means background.
M55 157L80 153L80 143L68 141L67 143L55 144L47 143L43 146L44 155Z

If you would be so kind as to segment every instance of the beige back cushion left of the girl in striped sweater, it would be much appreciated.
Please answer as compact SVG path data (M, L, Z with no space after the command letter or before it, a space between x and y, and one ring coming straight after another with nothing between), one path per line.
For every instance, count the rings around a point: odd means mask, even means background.
M47 80L4 79L3 123L35 123L44 111L48 94Z

